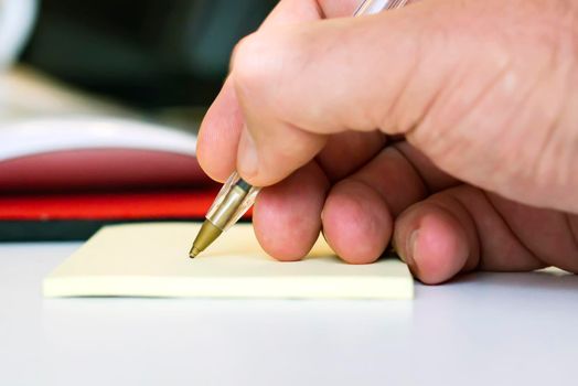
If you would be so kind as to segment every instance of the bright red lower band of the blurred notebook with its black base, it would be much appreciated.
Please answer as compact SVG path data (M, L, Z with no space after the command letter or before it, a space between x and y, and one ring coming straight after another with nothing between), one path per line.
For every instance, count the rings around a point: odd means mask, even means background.
M0 195L0 242L83 240L107 224L202 221L216 193L182 189Z

